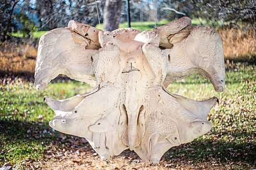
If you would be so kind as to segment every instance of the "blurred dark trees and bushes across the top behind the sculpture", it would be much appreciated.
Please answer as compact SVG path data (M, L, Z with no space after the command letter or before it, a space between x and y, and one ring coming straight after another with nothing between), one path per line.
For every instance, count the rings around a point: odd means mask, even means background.
M255 30L256 3L254 0L130 0L131 20L174 20L184 15L201 18L209 24L219 21L228 26L249 23ZM98 14L97 14L98 10ZM99 16L99 18L98 18ZM3 0L0 1L0 38L5 41L9 33L52 30L66 27L69 20L96 26L102 23L126 21L125 0ZM216 22L218 21L218 22ZM111 28L113 29L113 28Z

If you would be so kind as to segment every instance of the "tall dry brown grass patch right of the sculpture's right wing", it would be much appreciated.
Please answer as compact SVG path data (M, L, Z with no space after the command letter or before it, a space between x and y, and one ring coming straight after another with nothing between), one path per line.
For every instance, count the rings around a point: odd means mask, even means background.
M256 37L253 29L223 29L219 31L223 40L225 59L253 61L256 53Z

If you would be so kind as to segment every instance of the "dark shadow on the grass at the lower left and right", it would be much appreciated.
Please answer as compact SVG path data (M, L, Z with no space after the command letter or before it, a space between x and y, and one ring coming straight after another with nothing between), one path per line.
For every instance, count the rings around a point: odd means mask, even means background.
M233 136L251 138L253 134L236 133ZM55 145L57 149L65 149L72 153L77 150L90 155L94 153L89 143L82 141L82 138L53 132L48 123L0 120L0 165L4 162L17 163L24 159L46 159L47 150L52 145ZM120 156L140 159L133 151L129 150L124 151ZM255 157L255 143L199 139L169 149L161 161L176 164L189 164L189 161L194 163L213 160L219 163L230 161L234 164L243 163L252 167L255 164Z

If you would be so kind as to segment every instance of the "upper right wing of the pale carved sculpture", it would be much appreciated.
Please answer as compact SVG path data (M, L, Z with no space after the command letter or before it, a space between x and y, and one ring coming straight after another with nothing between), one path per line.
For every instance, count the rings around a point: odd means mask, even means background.
M190 74L200 74L210 80L217 92L222 92L225 63L221 37L204 26L188 25L189 20L183 17L157 28L161 36L159 47L168 57L164 86Z

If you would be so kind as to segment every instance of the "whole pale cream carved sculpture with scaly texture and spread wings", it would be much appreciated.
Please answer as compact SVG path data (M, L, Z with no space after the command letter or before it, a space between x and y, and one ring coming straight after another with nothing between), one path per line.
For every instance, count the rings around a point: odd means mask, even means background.
M50 126L85 137L102 159L134 150L158 163L171 147L207 133L206 117L217 98L194 101L165 87L190 74L224 90L225 67L218 33L183 17L152 31L103 32L71 20L40 38L37 89L59 74L94 86L66 100L45 97L56 116Z

